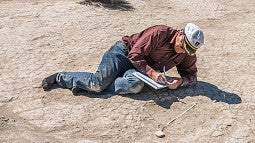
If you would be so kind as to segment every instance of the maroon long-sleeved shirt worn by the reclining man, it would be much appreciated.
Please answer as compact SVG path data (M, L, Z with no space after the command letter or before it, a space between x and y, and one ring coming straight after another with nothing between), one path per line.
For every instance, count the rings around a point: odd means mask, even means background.
M127 45L128 58L135 68L146 74L151 69L163 71L177 67L178 73L184 79L184 85L194 84L197 67L196 56L185 53L178 54L174 50L178 30L165 25L156 25L131 36L122 37ZM186 82L186 83L185 83Z

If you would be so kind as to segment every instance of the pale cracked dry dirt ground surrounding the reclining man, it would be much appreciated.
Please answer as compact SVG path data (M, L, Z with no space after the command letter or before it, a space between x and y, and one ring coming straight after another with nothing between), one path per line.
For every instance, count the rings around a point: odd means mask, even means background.
M0 142L255 142L255 1L0 0ZM59 71L95 71L124 35L148 26L205 32L193 88L75 96L39 85ZM169 75L177 75L175 69ZM171 123L168 121L197 103Z

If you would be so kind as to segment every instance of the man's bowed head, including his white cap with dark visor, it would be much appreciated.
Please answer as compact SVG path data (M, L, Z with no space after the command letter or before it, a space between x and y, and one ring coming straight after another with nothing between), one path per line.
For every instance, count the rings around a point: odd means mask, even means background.
M187 53L188 55L193 56L197 49L199 49L203 44L203 31L197 25L188 23L176 37L175 51L177 53Z

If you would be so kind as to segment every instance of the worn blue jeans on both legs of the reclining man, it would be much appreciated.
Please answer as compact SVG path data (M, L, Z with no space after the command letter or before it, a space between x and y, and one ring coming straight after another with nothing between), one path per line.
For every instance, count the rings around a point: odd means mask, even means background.
M128 50L122 41L116 42L104 55L95 73L60 72L57 83L64 88L80 88L101 92L107 88L115 94L139 93L144 82L132 73L135 67L129 61Z

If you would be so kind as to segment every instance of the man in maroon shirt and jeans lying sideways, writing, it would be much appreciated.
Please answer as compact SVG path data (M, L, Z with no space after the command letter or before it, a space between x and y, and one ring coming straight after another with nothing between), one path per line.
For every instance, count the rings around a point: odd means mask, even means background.
M139 93L144 82L132 73L139 71L154 81L167 84L169 89L193 86L197 81L195 52L204 44L203 31L188 23L177 30L165 25L155 25L131 36L124 36L103 55L95 73L59 72L42 81L44 90L55 84L72 89L115 94ZM162 73L177 67L180 78L171 80Z

